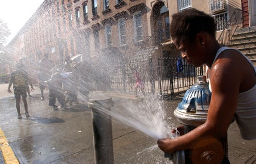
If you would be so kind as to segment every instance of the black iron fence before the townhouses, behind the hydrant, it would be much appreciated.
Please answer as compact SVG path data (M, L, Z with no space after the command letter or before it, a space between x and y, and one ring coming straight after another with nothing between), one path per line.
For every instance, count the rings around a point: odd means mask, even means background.
M178 71L178 56L158 58L158 65L153 65L151 57L136 62L130 60L122 68L111 75L111 88L135 94L135 70L144 82L147 94L158 94L163 99L172 99L177 95L184 95L185 91L197 82L196 75L204 74L203 68L196 69L182 59L183 69ZM142 94L141 92L138 92Z

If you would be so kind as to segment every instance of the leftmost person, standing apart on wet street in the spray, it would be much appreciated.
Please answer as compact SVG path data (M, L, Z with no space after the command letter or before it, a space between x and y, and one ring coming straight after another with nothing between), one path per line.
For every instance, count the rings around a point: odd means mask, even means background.
M27 72L24 70L24 66L22 63L18 63L16 65L16 70L11 72L10 75L10 83L8 86L8 92L13 93L10 88L11 85L13 85L13 91L14 91L14 97L16 100L16 109L18 112L18 119L22 118L22 115L20 114L20 96L22 96L22 101L24 104L25 109L25 115L26 117L30 117L28 114L28 108L27 108L27 87L28 87L28 75ZM31 86L32 90L34 89L33 86ZM31 91L32 91L31 90Z

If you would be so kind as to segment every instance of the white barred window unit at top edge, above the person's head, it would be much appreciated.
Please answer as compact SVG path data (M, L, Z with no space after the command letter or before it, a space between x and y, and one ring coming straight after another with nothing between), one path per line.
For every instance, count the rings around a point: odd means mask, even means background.
M209 1L209 10L211 14L216 14L219 12L226 11L226 0L210 0Z

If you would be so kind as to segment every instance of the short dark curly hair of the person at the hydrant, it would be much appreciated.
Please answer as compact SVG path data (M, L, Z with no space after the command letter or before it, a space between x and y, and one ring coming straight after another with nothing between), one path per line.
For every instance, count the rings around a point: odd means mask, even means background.
M172 39L194 41L196 34L201 31L216 37L216 21L212 16L193 8L172 15L170 24Z

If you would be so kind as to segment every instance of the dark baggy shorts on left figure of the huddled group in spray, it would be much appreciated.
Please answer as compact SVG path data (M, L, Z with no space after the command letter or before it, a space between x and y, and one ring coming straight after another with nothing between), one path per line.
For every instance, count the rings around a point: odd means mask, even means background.
M56 98L61 106L65 106L65 95L63 91L49 89L49 106L56 106Z

